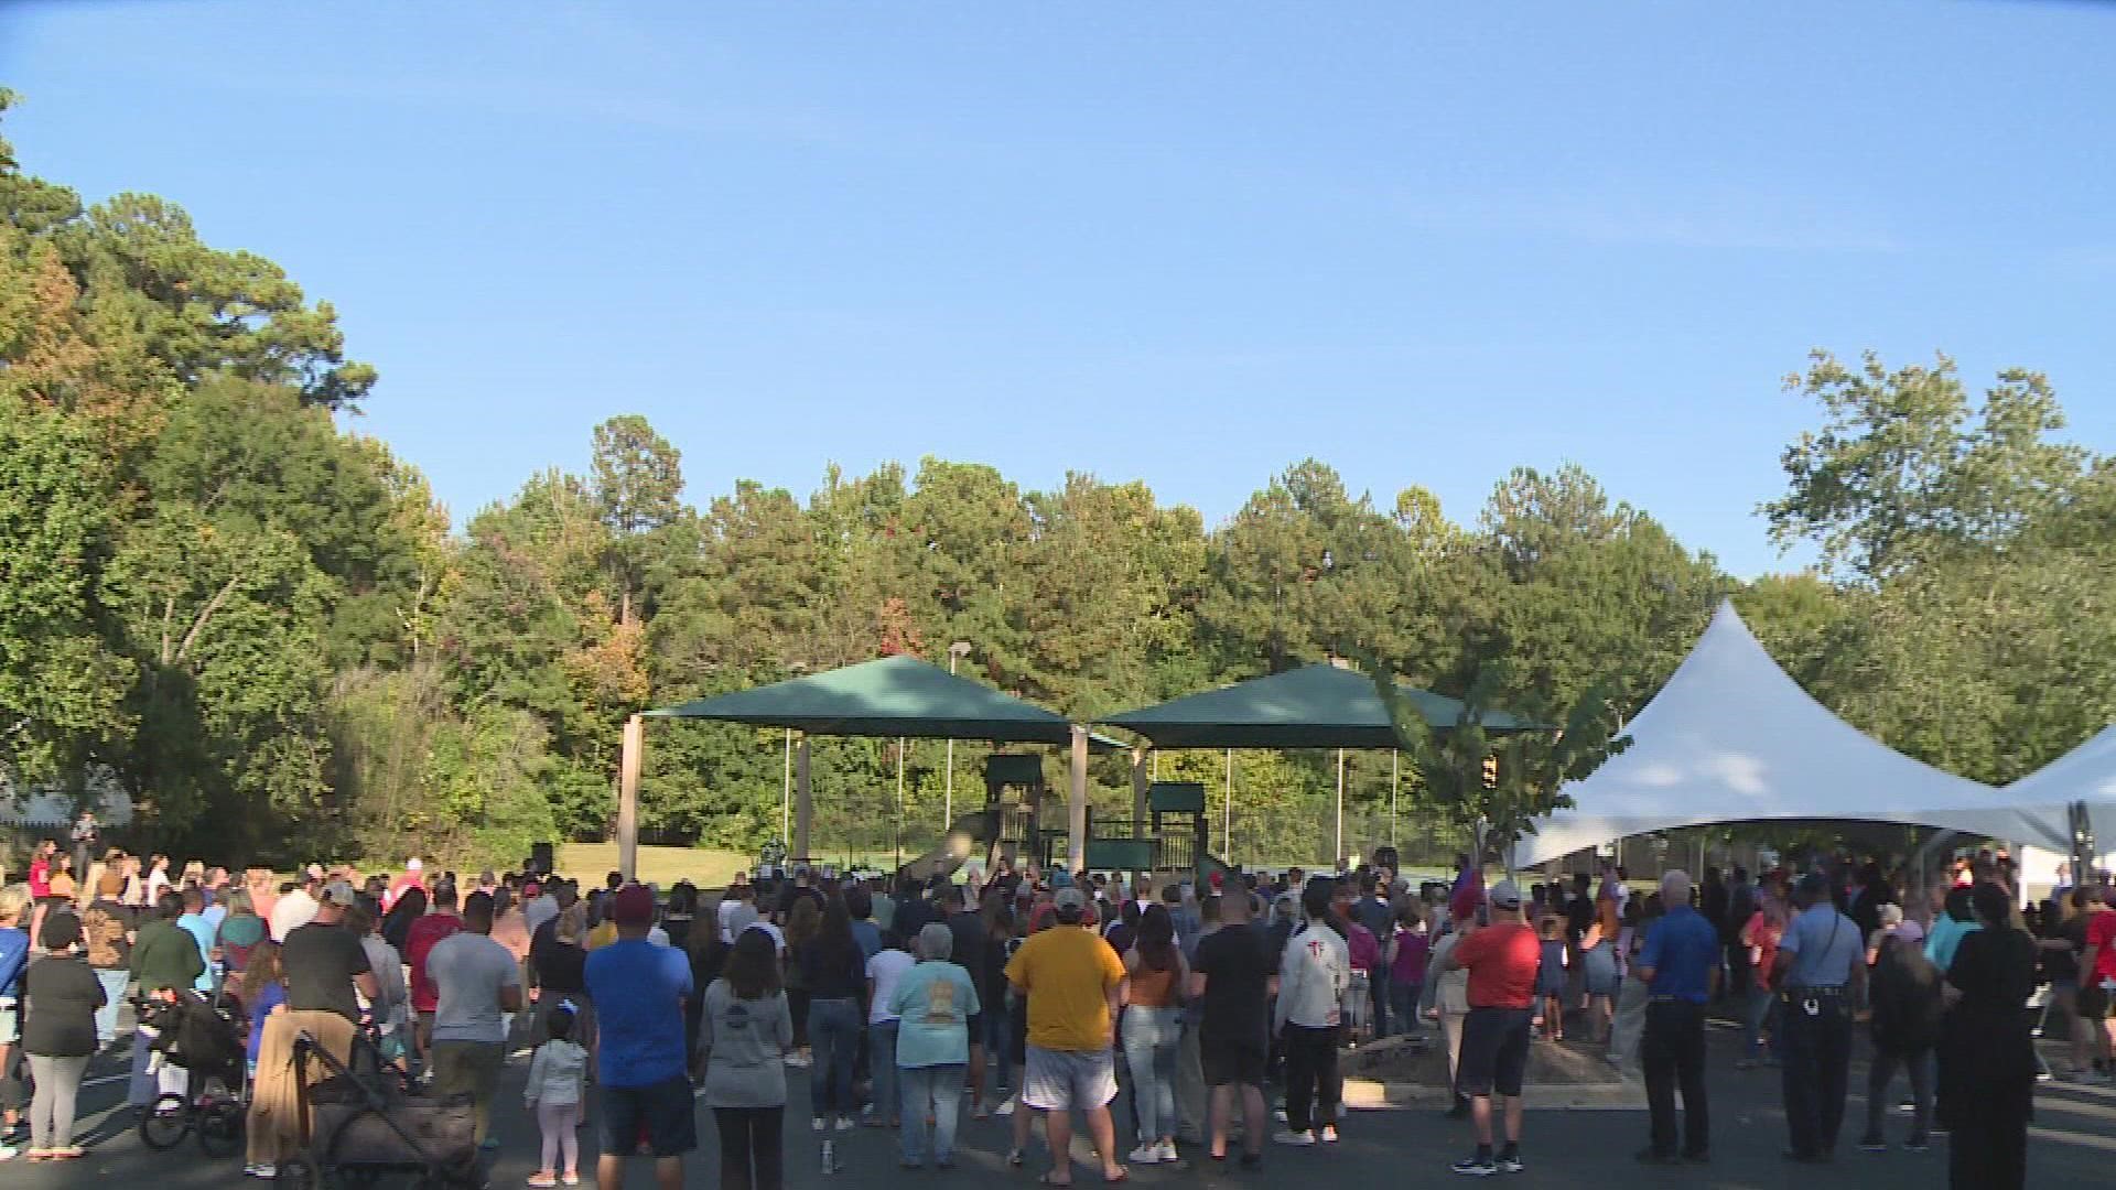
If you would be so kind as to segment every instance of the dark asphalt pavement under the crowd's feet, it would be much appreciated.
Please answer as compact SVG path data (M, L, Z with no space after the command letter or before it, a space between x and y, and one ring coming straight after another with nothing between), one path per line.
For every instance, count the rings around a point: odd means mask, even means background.
M1530 1095L1526 1169L1498 1175L1521 1190L1579 1186L1686 1186L1686 1188L1801 1188L1822 1190L1845 1186L1858 1190L1932 1188L1947 1182L1947 1141L1934 1139L1923 1154L1866 1154L1856 1148L1864 1120L1864 1061L1852 1071L1852 1097L1841 1150L1830 1165L1786 1165L1780 1158L1786 1126L1780 1112L1775 1069L1733 1069L1735 1038L1712 1035L1708 1086L1712 1095L1712 1162L1684 1167L1642 1167L1634 1152L1646 1139L1646 1114L1640 1110L1536 1110ZM510 1059L495 1110L499 1150L491 1160L491 1186L512 1190L535 1171L535 1120L521 1105L527 1076L527 1054ZM840 1169L823 1173L821 1137L808 1129L808 1088L804 1069L789 1069L791 1105L787 1112L787 1186L798 1190L870 1190L901 1188L931 1182L940 1188L995 1190L1003 1184L1035 1186L1045 1169L1041 1137L1035 1141L1026 1169L1009 1169L1007 1122L963 1120L959 1167L952 1171L897 1169L895 1137L880 1129L832 1133ZM1898 1080L1898 1088L1900 1088ZM205 1186L256 1184L241 1175L241 1158L214 1160L186 1139L174 1152L152 1152L131 1131L123 1110L123 1054L97 1059L83 1090L80 1118L91 1152L85 1160L66 1165L28 1165L21 1158L0 1165L0 1186L8 1190L85 1190L89 1186L125 1186L129 1190L193 1190ZM1119 1101L1119 1118L1121 1118ZM1909 1118L1892 1112L1890 1139L1900 1146ZM1443 1118L1430 1107L1354 1112L1342 1126L1335 1146L1278 1148L1265 1146L1261 1171L1242 1173L1204 1158L1200 1146L1185 1146L1179 1165L1132 1167L1132 1182L1151 1186L1289 1186L1327 1179L1333 1186L1437 1186L1454 1184L1447 1165L1471 1150L1466 1122ZM698 1107L700 1150L686 1165L686 1186L713 1188L719 1182L713 1116ZM1132 1139L1119 1131L1119 1148ZM582 1167L592 1184L595 1122L582 1131ZM1075 1139L1073 1179L1094 1186L1098 1167ZM2042 1084L2036 1099L2036 1124L2029 1139L2029 1186L2112 1186L2116 1184L2116 1090L2086 1088L2065 1082ZM633 1162L628 1186L650 1186L650 1162ZM256 1184L260 1186L260 1184Z

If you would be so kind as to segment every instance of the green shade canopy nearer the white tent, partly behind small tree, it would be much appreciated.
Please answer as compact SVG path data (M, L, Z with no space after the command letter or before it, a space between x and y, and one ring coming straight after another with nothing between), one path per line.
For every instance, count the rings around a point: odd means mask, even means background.
M1401 690L1435 728L1452 728L1462 718L1458 699L1411 686ZM1155 747L1397 747L1373 678L1335 665L1251 678L1102 722L1136 731ZM1526 731L1536 724L1485 711L1483 726Z

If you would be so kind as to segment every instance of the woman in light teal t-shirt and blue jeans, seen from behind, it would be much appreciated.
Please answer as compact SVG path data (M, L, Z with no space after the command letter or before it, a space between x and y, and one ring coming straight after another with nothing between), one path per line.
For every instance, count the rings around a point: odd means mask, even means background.
M954 1118L969 1067L969 1018L978 989L954 966L954 932L935 921L918 932L918 966L904 972L889 1010L897 1014L897 1088L904 1097L904 1169L925 1165L927 1112L933 1112L933 1165L954 1167Z

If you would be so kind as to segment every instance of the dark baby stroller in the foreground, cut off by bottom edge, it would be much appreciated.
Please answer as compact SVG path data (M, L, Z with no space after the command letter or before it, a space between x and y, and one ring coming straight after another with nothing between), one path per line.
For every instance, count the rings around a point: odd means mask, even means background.
M383 1065L375 1038L353 1035L351 1063L341 1063L315 1038L294 1042L294 1065L315 1061L326 1078L303 1088L309 1120L307 1152L281 1160L277 1182L296 1190L411 1175L421 1190L476 1190L476 1120L472 1099L421 1095Z

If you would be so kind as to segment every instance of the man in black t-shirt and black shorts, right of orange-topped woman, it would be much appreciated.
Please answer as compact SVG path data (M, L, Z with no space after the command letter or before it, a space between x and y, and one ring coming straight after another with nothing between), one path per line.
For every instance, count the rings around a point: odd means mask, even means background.
M1227 1156L1227 1118L1242 1105L1242 1169L1263 1165L1263 1069L1270 1061L1274 955L1251 925L1248 894L1221 894L1219 927L1198 938L1189 995L1200 1004L1198 1050L1210 1086L1210 1156Z

